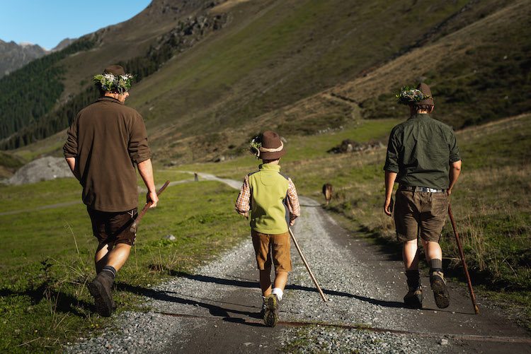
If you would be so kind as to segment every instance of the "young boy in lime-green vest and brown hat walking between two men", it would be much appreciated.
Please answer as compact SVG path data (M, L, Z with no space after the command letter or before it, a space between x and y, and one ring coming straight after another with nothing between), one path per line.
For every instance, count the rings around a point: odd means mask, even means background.
M278 321L278 308L291 271L288 225L300 216L297 189L290 177L280 174L280 158L286 151L280 136L265 131L251 143L251 153L262 159L258 172L246 175L236 200L236 211L249 219L251 236L260 273L263 321L273 327ZM271 264L275 264L275 281L271 284Z

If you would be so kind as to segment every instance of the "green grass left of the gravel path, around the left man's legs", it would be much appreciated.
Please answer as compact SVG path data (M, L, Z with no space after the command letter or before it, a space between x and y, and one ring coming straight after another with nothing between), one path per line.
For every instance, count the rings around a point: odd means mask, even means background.
M166 175L159 174L157 184L161 177ZM35 200L42 190L68 199L71 182L28 187L35 187ZM3 197L6 191L12 190L4 189ZM79 193L78 187L78 198ZM198 195L205 196L200 203ZM217 182L166 189L159 206L142 218L137 244L119 272L118 311L138 309L142 302L137 294L150 285L190 271L245 237L248 227L232 209L236 195ZM143 199L140 196L141 205ZM29 199L25 203L32 207ZM193 205L197 207L190 208ZM83 204L0 216L0 225L0 351L59 351L65 343L96 336L110 324L93 312L86 288L95 276L97 242ZM166 235L176 240L165 240Z

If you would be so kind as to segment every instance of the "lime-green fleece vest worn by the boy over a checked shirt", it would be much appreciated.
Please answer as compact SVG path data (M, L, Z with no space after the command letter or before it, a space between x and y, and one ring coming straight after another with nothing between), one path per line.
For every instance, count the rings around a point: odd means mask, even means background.
M268 235L287 232L290 212L287 208L287 177L279 165L262 164L249 175L251 187L251 228Z

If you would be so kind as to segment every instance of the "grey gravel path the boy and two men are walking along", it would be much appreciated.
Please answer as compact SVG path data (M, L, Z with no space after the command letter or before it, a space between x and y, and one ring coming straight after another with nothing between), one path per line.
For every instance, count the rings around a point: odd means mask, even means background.
M233 185L239 187L240 183ZM435 307L430 291L424 295L424 309L404 309L401 262L349 236L312 199L300 200L302 216L293 231L329 301L323 302L292 247L293 271L282 299L280 321L311 321L313 326L279 323L270 329L257 318L261 297L249 239L200 267L193 276L179 276L141 291L151 312L122 312L116 317L115 329L96 338L80 338L67 351L278 353L283 348L290 353L493 353L496 348L508 347L472 343L472 336L525 336L522 331L506 329L510 324L503 321L474 315L466 294L459 289L450 290L455 302L447 310ZM426 277L423 284L429 284ZM491 321L497 321L499 328L486 326ZM325 323L389 331L334 328ZM531 345L519 343L514 348L514 353L525 353Z

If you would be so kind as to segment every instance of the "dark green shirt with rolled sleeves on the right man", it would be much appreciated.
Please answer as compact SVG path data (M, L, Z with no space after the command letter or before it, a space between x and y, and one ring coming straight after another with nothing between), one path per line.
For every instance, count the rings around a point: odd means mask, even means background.
M415 114L393 128L384 170L403 186L447 189L450 163L461 160L450 126L429 114Z

